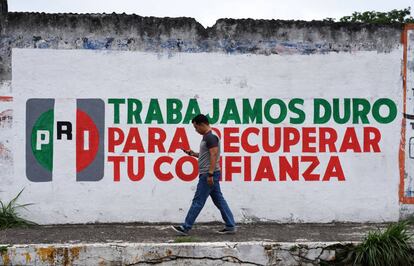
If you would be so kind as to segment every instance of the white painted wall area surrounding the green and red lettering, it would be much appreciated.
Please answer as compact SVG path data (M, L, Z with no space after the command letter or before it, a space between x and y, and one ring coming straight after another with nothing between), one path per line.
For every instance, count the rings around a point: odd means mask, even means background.
M106 164L105 177L100 182L76 182L74 145L68 143L60 147L56 145L54 180L30 182L25 176L24 148L25 104L29 98L57 98L57 115L67 117L74 112L76 98L118 97L143 101L158 98L162 102L166 98L185 101L198 97L202 111L210 110L211 99L217 97L303 98L308 118L312 116L315 97L367 98L372 102L390 98L398 105L397 118L386 125L373 120L370 124L381 131L382 152L338 155L346 181L243 182L242 177L235 175L233 182L221 185L238 222L397 220L401 59L400 49L390 53L306 56L179 53L172 57L142 52L14 49L14 174L0 179L3 191L0 197L10 199L25 188L21 201L35 203L25 215L42 224L181 222L196 188L196 181L183 182L175 178L160 182L151 171L136 183L123 172L121 182L114 183L112 164ZM111 108L107 106L106 112L107 126L111 126ZM296 127L303 126L313 126L311 119ZM352 125L330 123L326 126L337 128L341 135ZM123 127L127 128L126 125ZM174 125L162 127L167 131L175 128ZM185 127L192 148L197 150L201 137L192 125ZM362 125L355 127L360 130ZM179 158L183 154L169 155ZM296 149L291 155L300 155L300 152ZM157 156L148 155L147 159L151 162ZM318 156L326 165L327 155ZM255 164L257 160L254 160L253 168ZM220 213L209 200L198 221L216 220L221 220Z

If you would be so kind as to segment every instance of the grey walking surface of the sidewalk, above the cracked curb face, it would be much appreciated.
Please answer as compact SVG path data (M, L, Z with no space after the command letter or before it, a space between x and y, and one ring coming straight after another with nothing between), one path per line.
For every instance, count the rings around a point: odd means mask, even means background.
M219 235L220 224L196 224L191 241L360 241L364 235L386 224L242 224L235 235ZM413 228L414 229L414 228ZM168 243L177 236L167 224L88 224L36 226L0 231L0 244L136 242ZM178 239L180 240L180 239Z

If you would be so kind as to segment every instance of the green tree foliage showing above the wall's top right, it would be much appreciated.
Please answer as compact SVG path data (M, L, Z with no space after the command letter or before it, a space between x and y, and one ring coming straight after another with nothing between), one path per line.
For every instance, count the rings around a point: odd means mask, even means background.
M326 18L324 21L333 22L335 19ZM389 12L354 12L351 16L345 16L339 19L339 22L359 22L372 24L392 24L392 23L414 23L411 16L411 8L401 10L393 9Z

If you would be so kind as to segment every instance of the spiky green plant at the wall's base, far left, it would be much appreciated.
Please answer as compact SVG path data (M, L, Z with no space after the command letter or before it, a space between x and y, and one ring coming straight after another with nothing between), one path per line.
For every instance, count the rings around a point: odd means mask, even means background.
M18 214L19 209L25 209L27 206L32 205L32 203L17 203L17 200L19 199L22 192L23 189L8 203L0 200L0 230L12 227L29 227L36 225L36 223L32 221L21 218Z

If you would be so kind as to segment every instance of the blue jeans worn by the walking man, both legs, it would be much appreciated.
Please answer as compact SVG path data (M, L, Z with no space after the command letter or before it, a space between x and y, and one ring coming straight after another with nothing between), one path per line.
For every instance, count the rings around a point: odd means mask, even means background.
M188 210L187 217L185 218L185 222L183 224L184 229L187 231L191 229L195 220L197 219L198 214L200 213L201 209L203 209L208 196L211 196L214 205L216 205L216 207L220 210L221 217L226 223L226 228L229 230L234 230L236 224L234 223L233 214L231 213L229 205L227 205L227 202L220 190L220 171L214 172L213 186L208 185L207 178L208 174L201 174L199 176L193 203Z

